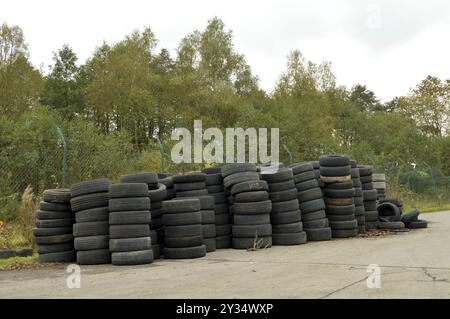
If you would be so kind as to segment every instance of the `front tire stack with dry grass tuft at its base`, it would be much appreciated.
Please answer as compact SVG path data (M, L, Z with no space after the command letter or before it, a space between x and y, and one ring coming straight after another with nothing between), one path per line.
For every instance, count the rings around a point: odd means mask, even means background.
M268 248L272 246L270 212L272 202L265 181L234 184L233 196L233 248Z

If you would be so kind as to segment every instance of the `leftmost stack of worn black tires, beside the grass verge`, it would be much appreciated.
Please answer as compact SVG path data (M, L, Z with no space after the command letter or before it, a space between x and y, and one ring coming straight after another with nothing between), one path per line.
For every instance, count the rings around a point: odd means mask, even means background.
M70 208L70 190L45 190L36 217L33 234L39 261L74 261L72 226L75 219Z

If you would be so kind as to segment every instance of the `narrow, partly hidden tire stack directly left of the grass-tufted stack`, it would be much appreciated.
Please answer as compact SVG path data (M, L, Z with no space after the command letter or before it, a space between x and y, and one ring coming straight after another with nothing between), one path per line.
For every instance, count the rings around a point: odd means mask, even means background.
M206 168L206 189L209 196L214 197L214 221L216 225L216 249L231 247L230 229L231 215L228 211L228 199L223 187L221 168Z

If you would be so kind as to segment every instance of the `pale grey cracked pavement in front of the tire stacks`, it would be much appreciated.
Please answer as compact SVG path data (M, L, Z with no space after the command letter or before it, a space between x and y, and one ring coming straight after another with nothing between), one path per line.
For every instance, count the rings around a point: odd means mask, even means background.
M0 298L449 298L450 211L421 217L428 229L384 237L82 266L81 288L67 287L64 265L0 271Z

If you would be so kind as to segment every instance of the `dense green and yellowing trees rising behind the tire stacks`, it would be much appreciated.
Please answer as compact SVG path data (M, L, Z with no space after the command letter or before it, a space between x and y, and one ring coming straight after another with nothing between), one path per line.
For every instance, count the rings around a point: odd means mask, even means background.
M157 42L145 28L101 44L84 63L65 45L42 72L29 61L21 29L3 24L2 174L36 169L48 179L58 166L48 159L58 143L55 126L68 135L73 174L81 170L81 154L95 154L98 161L85 166L99 165L107 175L103 166L125 167L123 154L156 147L154 136L170 143L173 128L202 119L204 127L279 127L296 161L343 152L385 168L415 163L450 175L449 79L428 76L382 103L364 85L338 86L330 63L293 50L273 91L265 92L218 18L184 37L175 56L157 51ZM284 148L280 156L288 159Z

